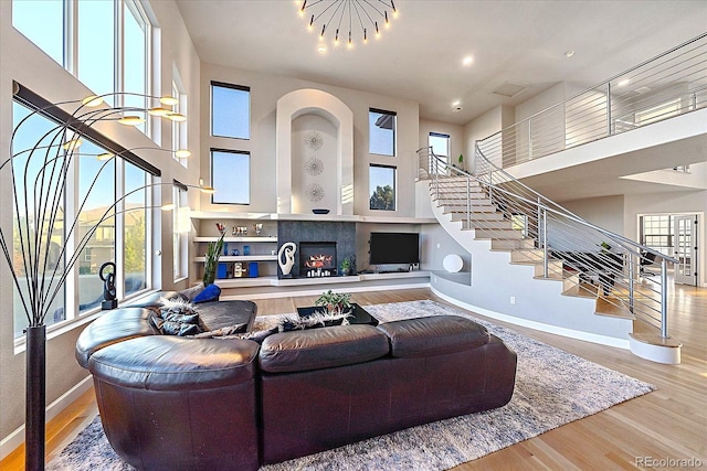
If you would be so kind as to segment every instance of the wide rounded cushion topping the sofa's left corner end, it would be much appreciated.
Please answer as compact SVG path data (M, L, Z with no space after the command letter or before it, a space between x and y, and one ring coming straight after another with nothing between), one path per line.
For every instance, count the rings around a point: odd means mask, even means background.
M91 356L88 370L136 389L209 389L252 379L257 349L249 340L154 335L106 346Z

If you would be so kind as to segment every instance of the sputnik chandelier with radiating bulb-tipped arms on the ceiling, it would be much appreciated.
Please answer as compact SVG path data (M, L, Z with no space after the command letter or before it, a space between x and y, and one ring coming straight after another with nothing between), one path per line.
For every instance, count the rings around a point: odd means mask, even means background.
M327 51L326 40L333 38L335 46L346 42L347 49L355 43L368 42L369 36L380 38L383 28L398 17L393 0L297 0L299 15L306 17L309 31L319 33L317 51ZM390 10L390 11L389 11Z

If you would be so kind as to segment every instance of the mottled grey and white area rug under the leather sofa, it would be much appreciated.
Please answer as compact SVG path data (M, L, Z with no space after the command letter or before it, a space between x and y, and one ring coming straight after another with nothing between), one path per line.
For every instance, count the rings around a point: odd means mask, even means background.
M475 320L518 354L516 388L506 406L389 433L335 450L265 465L262 471L445 470L597 414L655 386L478 320L434 301L367 306L381 322L456 314ZM277 317L256 318L255 329ZM49 470L131 470L113 451L98 417L71 442Z

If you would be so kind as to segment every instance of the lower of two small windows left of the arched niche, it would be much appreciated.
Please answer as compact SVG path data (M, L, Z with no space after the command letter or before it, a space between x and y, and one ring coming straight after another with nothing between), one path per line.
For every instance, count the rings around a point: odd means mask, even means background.
M212 203L251 204L251 154L211 149Z

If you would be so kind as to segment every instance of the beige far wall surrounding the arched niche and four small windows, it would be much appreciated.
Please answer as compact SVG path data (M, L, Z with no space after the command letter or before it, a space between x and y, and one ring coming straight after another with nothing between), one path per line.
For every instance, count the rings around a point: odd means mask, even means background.
M340 99L354 113L354 214L389 217L411 217L415 214L414 180L418 173L419 104L414 100L392 98L349 88L335 87L282 75L261 74L244 69L201 65L201 168L202 175L210 174L210 148L235 149L251 152L251 204L213 205L203 196L201 211L233 211L277 213L276 199L276 105L277 100L294 90L320 89ZM251 87L251 139L226 139L209 136L210 81ZM398 156L376 156L368 152L369 108L398 114ZM397 210L391 212L369 210L369 164L394 165L397 174ZM294 169L293 171L300 171ZM256 184L255 184L256 183ZM384 214L383 214L384 213Z

